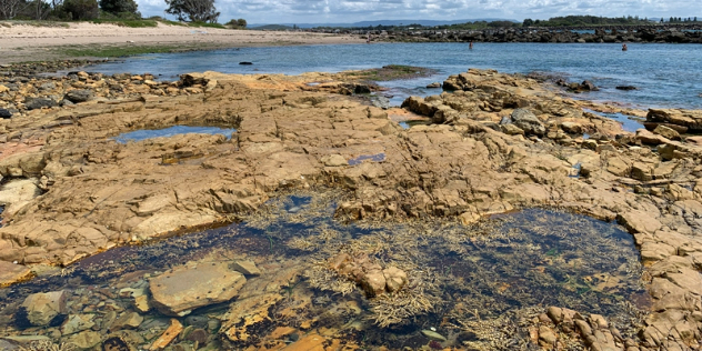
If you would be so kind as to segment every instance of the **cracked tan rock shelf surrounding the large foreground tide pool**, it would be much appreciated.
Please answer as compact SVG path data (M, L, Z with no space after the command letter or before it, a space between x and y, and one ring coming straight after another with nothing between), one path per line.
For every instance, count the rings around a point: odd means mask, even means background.
M116 245L232 220L295 189L348 192L335 217L351 221L441 218L472 224L521 208L555 207L615 220L633 234L652 307L635 339L618 337L596 314L549 309L536 313L534 342L550 349L575 338L593 350L628 351L698 345L702 147L694 133L701 111L621 109L562 97L531 78L473 69L447 79L443 87L451 92L409 98L403 111L349 99L371 88L348 74L205 72L178 82L151 79L77 72L51 80L53 87L44 90L54 102L87 91L84 101L31 109L27 96L49 81L20 81L0 92L4 106L16 110L0 120L0 173L8 184L18 183L0 193L9 199L0 228L4 283ZM646 117L652 131L625 132L583 109ZM389 119L410 112L432 124L405 130ZM231 140L187 134L122 144L111 139L174 124L238 132ZM280 270L281 279L289 273ZM32 299L27 307L61 301L60 295ZM280 301L277 294L261 299L249 308ZM120 315L120 325L137 323L140 312L133 313ZM176 318L164 324L164 334L180 333L180 323ZM258 322L232 323L230 340L240 338L241 325ZM159 335L152 335L154 342Z

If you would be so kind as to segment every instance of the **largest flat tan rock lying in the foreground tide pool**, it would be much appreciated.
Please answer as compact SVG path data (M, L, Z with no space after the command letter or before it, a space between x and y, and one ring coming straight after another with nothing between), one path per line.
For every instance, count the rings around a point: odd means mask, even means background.
M149 283L152 305L164 314L185 315L197 308L234 298L247 282L225 262L182 265Z

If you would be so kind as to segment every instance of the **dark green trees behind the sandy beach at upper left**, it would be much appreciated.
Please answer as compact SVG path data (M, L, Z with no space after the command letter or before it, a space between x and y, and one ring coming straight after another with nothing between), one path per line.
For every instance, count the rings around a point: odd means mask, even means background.
M164 0L166 13L179 21L217 23L214 0ZM81 21L96 19L141 20L134 0L0 0L0 20ZM245 28L244 19L232 19L229 28Z

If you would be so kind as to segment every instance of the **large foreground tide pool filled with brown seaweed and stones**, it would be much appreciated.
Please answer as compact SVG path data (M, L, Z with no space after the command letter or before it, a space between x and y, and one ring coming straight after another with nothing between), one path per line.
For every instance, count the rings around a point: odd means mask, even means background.
M536 349L546 307L626 338L646 308L620 227L528 209L471 227L334 218L342 197L269 201L242 222L117 248L0 290L0 347L110 350Z

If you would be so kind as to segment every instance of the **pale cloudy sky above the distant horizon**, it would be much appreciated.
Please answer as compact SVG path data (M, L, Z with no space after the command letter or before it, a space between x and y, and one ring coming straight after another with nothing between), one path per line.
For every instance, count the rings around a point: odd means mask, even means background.
M136 0L143 17L161 16L164 0ZM702 0L215 0L219 21L351 23L369 20L523 20L592 14L702 18Z

